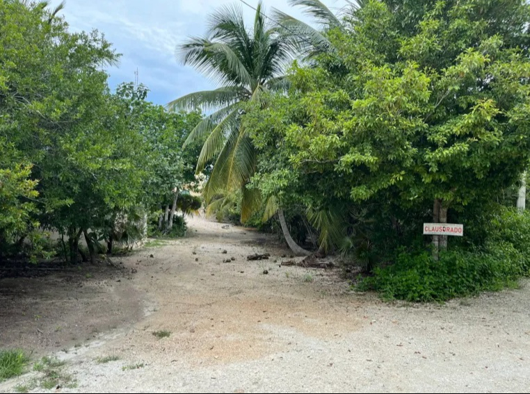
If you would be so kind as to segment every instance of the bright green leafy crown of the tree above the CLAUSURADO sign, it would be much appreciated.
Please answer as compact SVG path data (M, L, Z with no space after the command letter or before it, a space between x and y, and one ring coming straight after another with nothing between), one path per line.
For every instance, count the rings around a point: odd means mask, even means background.
M319 208L385 199L444 222L528 161L529 22L524 1L371 1L328 31L335 54L294 67L262 124L330 186Z

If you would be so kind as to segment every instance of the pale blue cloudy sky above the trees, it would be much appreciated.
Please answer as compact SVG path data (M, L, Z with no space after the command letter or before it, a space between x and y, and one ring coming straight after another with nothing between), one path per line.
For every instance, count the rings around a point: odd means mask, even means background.
M245 0L255 7L257 0ZM338 11L346 0L321 0ZM60 0L50 1L56 6ZM116 51L120 63L107 70L109 85L135 80L150 89L148 99L167 104L173 99L199 90L216 88L216 84L190 66L179 64L175 48L190 35L204 35L208 15L225 4L238 4L251 26L255 10L239 0L66 0L62 15L72 31L104 33ZM266 13L278 8L289 15L310 22L300 8L291 8L286 0L264 0ZM51 8L51 7L50 7Z

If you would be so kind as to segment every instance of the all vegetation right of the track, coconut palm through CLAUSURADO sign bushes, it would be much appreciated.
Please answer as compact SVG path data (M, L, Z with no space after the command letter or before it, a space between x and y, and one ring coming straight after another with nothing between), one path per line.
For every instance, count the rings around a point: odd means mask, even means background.
M529 4L289 3L319 27L261 3L247 25L220 8L179 47L223 83L172 103L218 110L186 141L209 135L207 212L278 231L294 254L342 254L357 288L389 299L517 286L530 273ZM424 236L425 222L463 237Z

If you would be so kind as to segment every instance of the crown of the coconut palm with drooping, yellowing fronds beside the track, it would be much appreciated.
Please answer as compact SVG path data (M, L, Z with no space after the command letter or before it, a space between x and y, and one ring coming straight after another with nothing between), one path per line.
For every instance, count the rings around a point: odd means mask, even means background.
M220 88L191 93L168 104L172 110L202 108L213 113L190 133L184 145L206 137L197 172L215 159L204 188L207 202L220 194L243 190L241 220L246 220L259 202L259 194L246 188L255 172L255 148L241 125L244 105L263 105L264 92L282 90L285 69L294 59L291 40L268 22L259 1L252 29L243 23L239 6L225 6L209 19L204 37L193 37L177 48L184 65L192 65L220 84Z

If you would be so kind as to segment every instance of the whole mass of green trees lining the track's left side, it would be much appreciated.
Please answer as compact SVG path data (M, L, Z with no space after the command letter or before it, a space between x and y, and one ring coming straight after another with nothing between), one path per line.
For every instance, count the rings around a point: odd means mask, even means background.
M148 103L142 85L111 92L111 44L46 6L0 1L0 256L44 254L47 229L72 262L84 236L94 260L193 187L198 147L181 147L201 115Z

